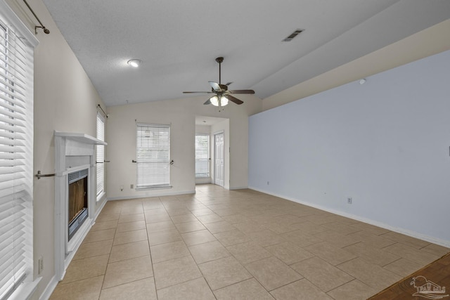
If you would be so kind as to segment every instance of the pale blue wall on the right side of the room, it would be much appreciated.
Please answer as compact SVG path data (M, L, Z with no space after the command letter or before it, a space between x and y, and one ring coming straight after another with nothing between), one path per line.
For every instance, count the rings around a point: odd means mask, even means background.
M446 51L250 117L250 188L449 247L449 79Z

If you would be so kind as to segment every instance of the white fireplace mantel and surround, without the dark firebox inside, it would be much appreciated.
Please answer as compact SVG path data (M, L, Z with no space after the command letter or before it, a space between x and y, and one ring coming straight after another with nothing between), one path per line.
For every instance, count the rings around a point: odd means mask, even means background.
M84 133L55 131L55 273L62 280L65 270L82 240L94 224L96 207L96 145L107 143ZM89 216L77 233L68 240L68 174L89 170Z

